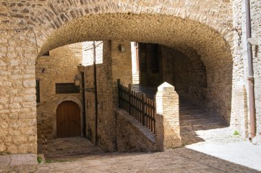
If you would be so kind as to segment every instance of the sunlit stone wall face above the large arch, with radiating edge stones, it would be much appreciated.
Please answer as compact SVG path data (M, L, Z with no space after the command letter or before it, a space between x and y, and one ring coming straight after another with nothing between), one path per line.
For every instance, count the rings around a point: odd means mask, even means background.
M30 27L36 32L38 44L45 42L52 32L72 19L93 14L163 14L198 21L229 38L232 27L230 1L36 1L1 0L1 23ZM204 8L202 8L204 7ZM12 10L11 10L12 8ZM1 29L9 28L3 25Z

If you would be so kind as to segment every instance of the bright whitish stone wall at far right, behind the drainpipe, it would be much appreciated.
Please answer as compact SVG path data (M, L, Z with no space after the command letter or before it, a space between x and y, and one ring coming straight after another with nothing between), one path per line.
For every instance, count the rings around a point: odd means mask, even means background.
M243 132L241 135L247 137L250 134L250 119L249 119L249 84L247 80L248 76L248 62L247 62L247 36L246 36L246 23L245 23L245 1L233 1L234 5L234 28L237 30L234 31L234 42L235 47L234 51L234 84L233 88L235 93L238 93L236 89L240 88L238 86L245 87L245 97L247 105L244 104L232 104L232 115L235 117L238 124L234 125L232 130L239 130ZM251 27L252 27L252 37L259 38L261 37L260 29L260 1L251 1ZM253 46L253 73L255 78L255 97L256 97L256 135L258 141L261 141L261 128L260 128L260 119L261 119L261 107L260 107L260 43L258 47ZM237 97L234 95L234 97ZM245 107L247 116L236 115L236 111L240 107ZM234 122L236 122L234 121ZM247 124L247 126L239 126L239 124ZM244 132L247 134L244 134Z

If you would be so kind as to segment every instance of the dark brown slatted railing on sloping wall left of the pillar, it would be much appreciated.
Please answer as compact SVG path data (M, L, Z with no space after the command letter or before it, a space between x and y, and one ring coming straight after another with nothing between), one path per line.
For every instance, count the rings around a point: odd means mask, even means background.
M153 133L155 133L155 114L156 104L154 100L146 97L145 93L133 91L131 84L125 87L117 80L118 95L119 95L119 108L128 112L143 126L146 126Z

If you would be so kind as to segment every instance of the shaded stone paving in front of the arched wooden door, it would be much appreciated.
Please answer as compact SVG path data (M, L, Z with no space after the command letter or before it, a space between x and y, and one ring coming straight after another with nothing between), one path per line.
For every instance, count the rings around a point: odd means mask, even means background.
M43 152L45 159L51 160L76 159L100 153L100 148L83 137L53 139L47 143L47 154Z

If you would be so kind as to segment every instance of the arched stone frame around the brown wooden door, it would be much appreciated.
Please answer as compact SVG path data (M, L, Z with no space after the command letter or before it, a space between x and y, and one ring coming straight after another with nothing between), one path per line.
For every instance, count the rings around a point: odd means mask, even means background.
M53 132L52 132L52 136L56 139L57 138L57 125L56 125L56 110L58 108L58 106L62 103L62 102L65 102L65 101L71 101L71 102L75 102L79 108L80 108L80 136L83 137L84 136L84 129L83 129L83 115L82 115L82 102L76 98L76 97L73 97L73 96L67 96L67 97L63 97L63 98L60 98L59 100L56 101L56 104L54 106L54 110L53 110L53 115L54 115L54 122L53 122Z

